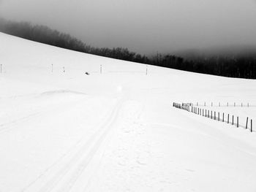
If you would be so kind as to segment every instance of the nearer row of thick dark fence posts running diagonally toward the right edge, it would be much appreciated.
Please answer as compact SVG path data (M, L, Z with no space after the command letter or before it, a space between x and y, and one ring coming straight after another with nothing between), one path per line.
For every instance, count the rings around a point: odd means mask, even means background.
M173 107L176 107L181 110L187 110L188 112L193 112L196 115L202 115L203 117L206 117L206 118L211 118L213 120L225 122L225 113L224 112L222 112L222 118L220 118L219 112L217 113L214 111L214 113L213 113L213 111L211 110L211 113L210 113L210 110L193 107L192 104L178 104L178 103L173 102ZM249 128L248 120L249 120L249 118L247 117L246 118L246 126L245 126L246 129ZM251 121L250 131L252 132L252 119L250 121ZM230 114L227 114L227 123L228 124L231 123L232 125L236 125L237 127L239 127L239 117L238 116L236 117L236 122L235 122L234 115L232 115L232 120L231 120Z

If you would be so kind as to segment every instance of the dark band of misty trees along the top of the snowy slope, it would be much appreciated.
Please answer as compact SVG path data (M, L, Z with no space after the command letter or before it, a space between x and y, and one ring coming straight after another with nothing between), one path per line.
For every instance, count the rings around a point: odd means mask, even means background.
M99 48L86 45L84 42L48 28L47 26L31 25L26 22L11 22L0 19L0 31L16 37L29 39L35 42L42 42L56 47L69 50L101 55L108 58L117 58L125 61L133 61L142 64L163 66L172 69L181 69L189 72L204 74L215 74L225 77L240 77L256 79L256 55L233 56L233 57L197 57L184 59L176 55L156 54L148 57L129 51L127 48Z

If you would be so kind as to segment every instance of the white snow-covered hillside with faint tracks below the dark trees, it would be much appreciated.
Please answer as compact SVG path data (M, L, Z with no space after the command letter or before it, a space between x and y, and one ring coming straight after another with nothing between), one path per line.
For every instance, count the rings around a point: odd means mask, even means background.
M172 107L255 106L256 80L0 42L0 191L256 191L256 132Z

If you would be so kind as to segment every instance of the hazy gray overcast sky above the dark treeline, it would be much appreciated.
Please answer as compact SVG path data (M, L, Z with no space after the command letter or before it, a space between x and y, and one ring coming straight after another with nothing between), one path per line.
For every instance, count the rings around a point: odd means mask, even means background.
M255 0L0 0L0 16L138 53L256 45Z

